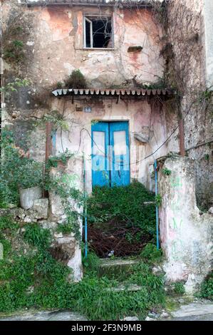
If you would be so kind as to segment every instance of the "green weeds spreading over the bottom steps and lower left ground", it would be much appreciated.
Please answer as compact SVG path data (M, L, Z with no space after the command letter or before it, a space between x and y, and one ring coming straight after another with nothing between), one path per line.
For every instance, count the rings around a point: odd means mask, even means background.
M1 221L1 220L0 220ZM4 222L6 222L4 220ZM0 225L12 230L8 221ZM98 277L99 259L89 254L84 260L85 275L81 282L71 283L70 269L53 259L49 252L50 232L39 225L26 225L19 239L28 243L27 252L17 254L12 248L9 256L0 260L0 311L16 311L25 308L71 309L87 316L90 320L118 320L133 315L143 319L147 310L164 304L163 282L155 277L150 267L141 264L133 268L133 273L125 282L140 284L138 292L113 292L118 280ZM92 265L92 266L91 266Z

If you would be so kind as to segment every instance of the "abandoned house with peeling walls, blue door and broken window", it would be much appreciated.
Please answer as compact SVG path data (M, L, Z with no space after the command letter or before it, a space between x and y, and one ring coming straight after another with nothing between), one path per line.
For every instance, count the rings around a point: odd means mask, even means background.
M165 272L190 288L211 264L212 219L199 214L195 198L196 189L197 202L212 205L211 10L209 0L1 1L1 85L30 81L1 97L2 127L13 128L20 148L30 133L27 155L38 162L73 153L52 173L75 175L71 182L87 194L134 180L155 191L156 160ZM61 115L68 126L55 129L46 118L46 128L33 128L45 115ZM41 204L46 226L56 225L58 195ZM78 242L56 240L68 244L68 266L80 279Z

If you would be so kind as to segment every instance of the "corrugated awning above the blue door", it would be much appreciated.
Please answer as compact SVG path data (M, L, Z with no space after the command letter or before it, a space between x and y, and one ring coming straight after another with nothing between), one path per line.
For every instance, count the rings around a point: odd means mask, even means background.
M53 96L172 96L174 92L169 88L147 90L142 88L60 88L52 91Z

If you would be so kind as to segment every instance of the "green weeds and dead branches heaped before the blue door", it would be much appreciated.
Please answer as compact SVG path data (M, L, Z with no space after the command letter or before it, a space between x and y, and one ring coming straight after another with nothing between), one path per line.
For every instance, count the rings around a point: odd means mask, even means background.
M95 187L88 199L88 241L100 257L139 254L155 237L155 195L140 182Z

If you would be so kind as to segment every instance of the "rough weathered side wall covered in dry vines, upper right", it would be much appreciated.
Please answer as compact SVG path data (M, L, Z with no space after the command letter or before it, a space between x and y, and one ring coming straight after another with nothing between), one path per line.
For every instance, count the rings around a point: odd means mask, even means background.
M197 201L200 207L208 208L212 205L213 182L212 143L209 143L212 140L212 100L201 102L202 92L209 87L206 81L209 51L208 48L206 51L205 40L209 36L207 26L210 22L204 11L211 13L212 5L207 3L203 0L171 0L167 7L165 36L167 45L172 47L167 58L167 78L181 97L179 113L185 118L187 155L195 160ZM173 121L167 118L168 133L174 128ZM169 141L170 151L177 151L174 149L178 140L176 133ZM202 143L209 144L194 148Z

